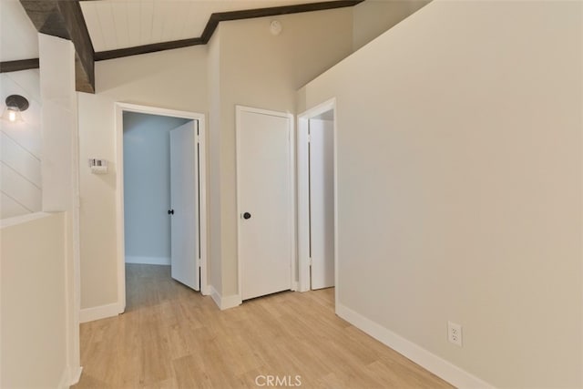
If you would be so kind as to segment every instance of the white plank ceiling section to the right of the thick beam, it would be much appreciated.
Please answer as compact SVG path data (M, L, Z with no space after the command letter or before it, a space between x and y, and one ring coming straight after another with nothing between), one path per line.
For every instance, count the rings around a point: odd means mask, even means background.
M216 12L318 1L322 0L100 0L80 4L93 47L99 52L199 37Z

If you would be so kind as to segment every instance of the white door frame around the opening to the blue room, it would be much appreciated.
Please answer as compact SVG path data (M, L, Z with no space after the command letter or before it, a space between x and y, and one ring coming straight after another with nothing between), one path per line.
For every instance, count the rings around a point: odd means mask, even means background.
M200 226L200 293L209 294L208 284L208 255L207 255L207 180L206 180L206 142L205 142L205 117L204 114L189 111L179 111L160 107L140 106L136 104L115 104L116 109L116 227L118 229L118 304L119 312L126 309L126 245L124 230L124 112L137 112L149 115L166 116L172 118L188 118L199 122L199 226ZM195 141L197 138L195 137ZM196 148L196 144L195 144Z

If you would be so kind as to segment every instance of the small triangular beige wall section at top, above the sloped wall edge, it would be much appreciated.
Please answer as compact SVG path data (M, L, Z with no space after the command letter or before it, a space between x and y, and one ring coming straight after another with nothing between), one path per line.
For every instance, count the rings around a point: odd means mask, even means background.
M431 0L366 0L353 7L353 49L380 36Z

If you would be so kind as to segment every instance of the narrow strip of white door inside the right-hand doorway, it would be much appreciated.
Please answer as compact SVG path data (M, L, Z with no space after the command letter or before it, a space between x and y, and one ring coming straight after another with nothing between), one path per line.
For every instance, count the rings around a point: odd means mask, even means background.
M333 121L310 119L312 289L334 286Z

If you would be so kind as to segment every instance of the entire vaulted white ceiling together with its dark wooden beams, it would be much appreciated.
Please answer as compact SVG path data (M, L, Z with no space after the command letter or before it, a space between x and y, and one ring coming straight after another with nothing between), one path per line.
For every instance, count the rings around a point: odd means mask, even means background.
M353 6L363 0L0 1L0 72L38 67L38 30L74 43L77 90L94 92L96 60L205 45L221 21Z

